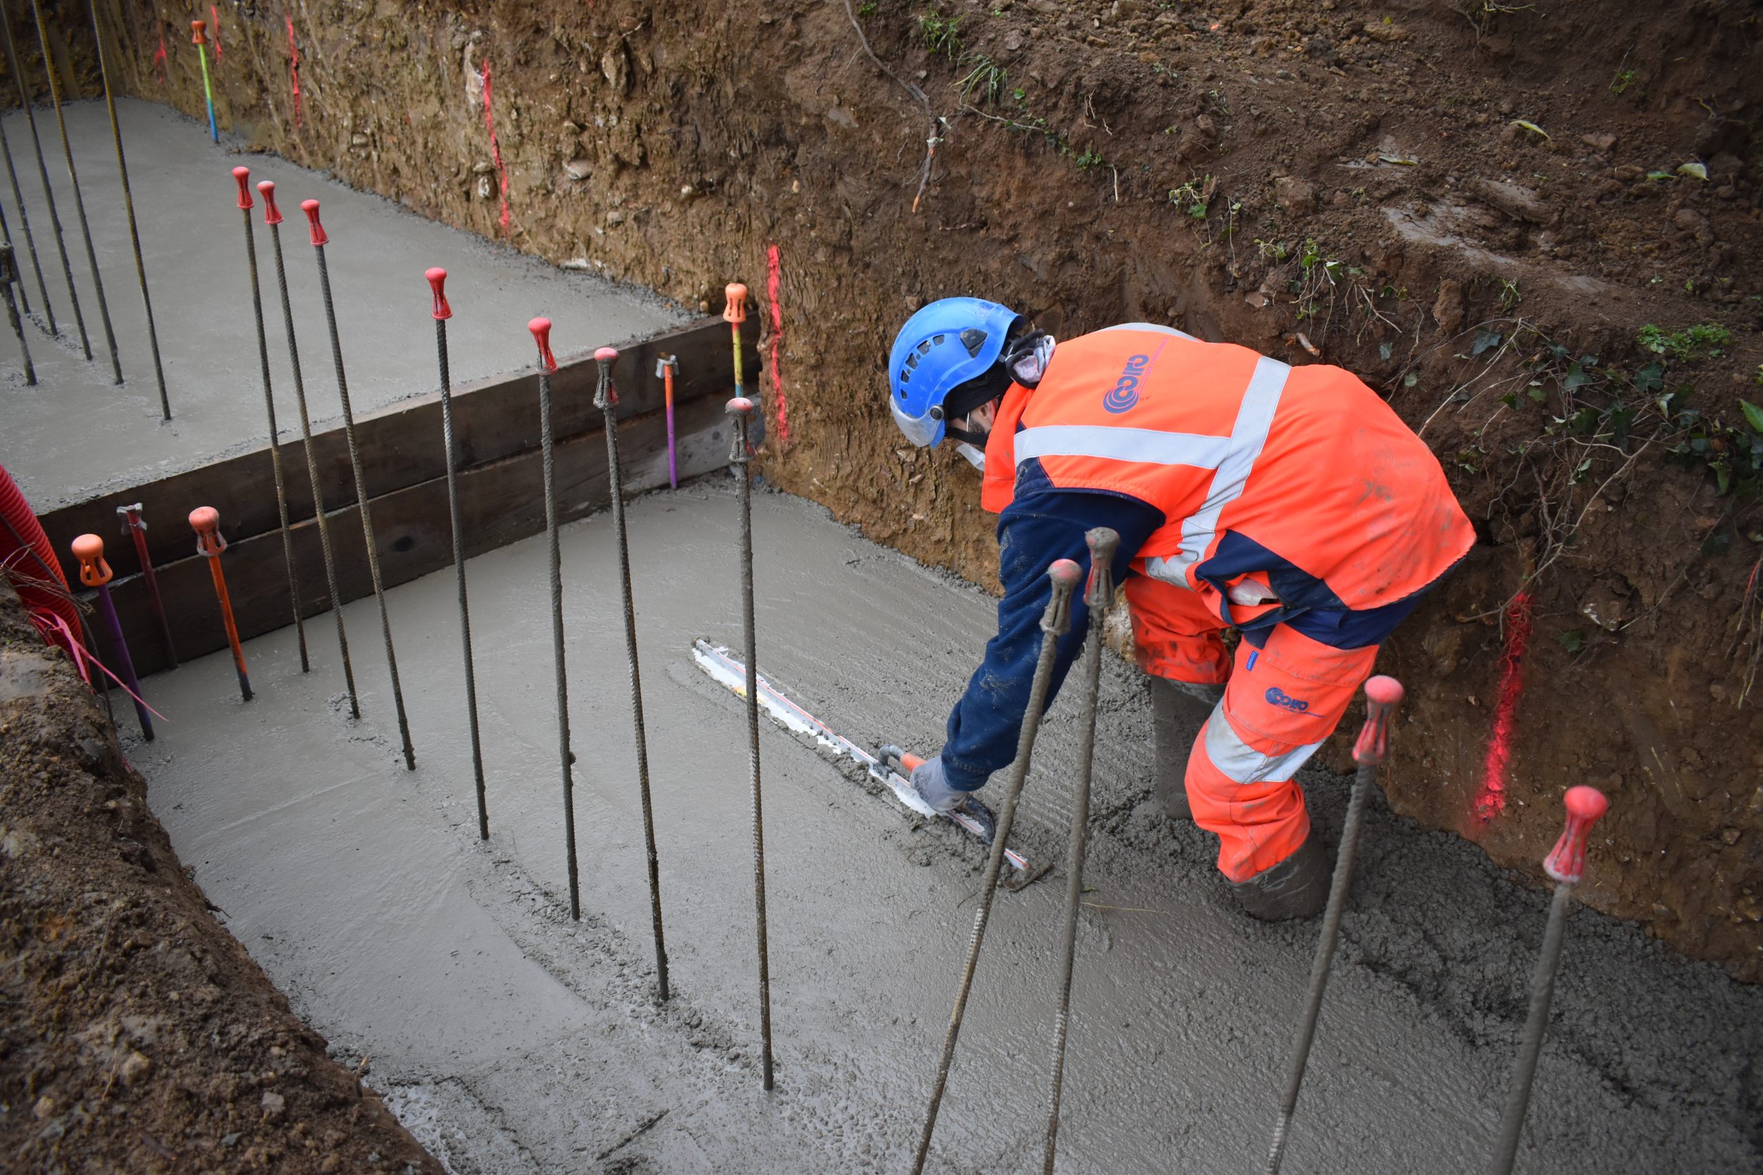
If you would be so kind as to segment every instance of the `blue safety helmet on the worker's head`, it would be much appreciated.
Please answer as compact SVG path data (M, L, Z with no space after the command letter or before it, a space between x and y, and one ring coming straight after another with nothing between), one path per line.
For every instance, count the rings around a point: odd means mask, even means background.
M1015 310L980 298L941 298L906 319L887 359L889 407L906 440L941 444L943 400L998 363L1015 321Z

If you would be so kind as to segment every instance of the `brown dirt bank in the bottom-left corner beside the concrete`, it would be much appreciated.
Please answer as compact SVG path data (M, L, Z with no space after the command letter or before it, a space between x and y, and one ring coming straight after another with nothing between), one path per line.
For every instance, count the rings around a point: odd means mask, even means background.
M210 911L0 578L7 1170L439 1175Z

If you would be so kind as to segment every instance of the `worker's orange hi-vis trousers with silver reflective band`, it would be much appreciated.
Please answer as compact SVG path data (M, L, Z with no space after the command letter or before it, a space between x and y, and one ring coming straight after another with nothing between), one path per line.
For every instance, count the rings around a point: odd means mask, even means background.
M1139 666L1174 682L1225 684L1188 752L1194 823L1218 837L1218 872L1246 881L1289 858L1310 835L1298 768L1335 731L1372 675L1377 645L1333 648L1291 625L1248 641L1236 657L1224 625L1194 592L1160 580L1127 580Z

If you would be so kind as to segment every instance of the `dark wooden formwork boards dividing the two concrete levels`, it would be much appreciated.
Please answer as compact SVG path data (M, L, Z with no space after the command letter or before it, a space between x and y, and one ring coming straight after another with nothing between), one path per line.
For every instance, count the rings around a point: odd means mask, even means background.
M742 368L753 373L760 370L756 336L756 322L749 319L742 331ZM693 477L728 463L725 403L733 395L733 356L728 324L712 319L619 349L612 379L619 393L619 465L626 493L666 484L665 391L654 375L656 359L665 354L679 358L673 379L679 476ZM557 502L566 521L610 504L606 439L601 410L594 407L596 381L591 354L562 363L552 375ZM455 389L453 433L465 555L541 532L538 375ZM342 426L314 433L312 440L337 555L337 588L344 602L361 599L372 592L372 581ZM450 565L453 541L439 391L358 418L356 442L386 587ZM301 442L282 444L282 472L301 613L310 618L330 608L330 588ZM79 567L69 551L74 536L104 536L106 558L116 573L111 597L139 673L162 669L167 661L134 544L120 532L116 507L130 502L145 507L148 555L178 657L226 648L206 558L196 555L187 521L197 506L220 511L229 543L222 565L240 636L293 622L268 446L44 514L42 528L63 560L69 583L79 583ZM333 645L331 625L309 624L307 643L324 661L326 645Z

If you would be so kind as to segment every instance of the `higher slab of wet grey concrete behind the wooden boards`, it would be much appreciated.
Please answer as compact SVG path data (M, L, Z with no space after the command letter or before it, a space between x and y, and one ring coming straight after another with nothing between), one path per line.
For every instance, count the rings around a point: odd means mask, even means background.
M435 331L423 280L428 266L448 271L453 305L448 351L455 386L527 368L536 352L525 324L534 315L554 321L552 345L559 358L686 321L651 292L522 257L273 155L242 155L227 146L226 136L217 146L205 125L166 106L123 100L116 111L171 398L173 419L162 423L109 116L102 102L72 102L63 109L125 382L120 388L113 382L55 113L37 111L37 134L92 340L90 363L79 351L74 307L55 250L25 115L12 111L5 115L7 139L60 336L41 328L41 292L18 208L11 187L0 181L0 204L37 315L37 326L26 326L35 388L25 384L16 336L0 326L0 465L39 513L106 486L152 481L268 440L245 229L231 174L242 164L250 167L252 185L275 180L277 203L287 218L282 252L316 428L340 418L342 405L317 261L300 211L300 201L309 197L321 203L331 240L324 261L356 416L437 386ZM252 199L257 199L256 190ZM252 222L277 426L284 439L298 439L287 333L261 201Z

